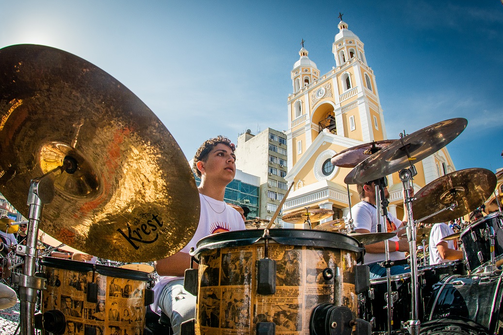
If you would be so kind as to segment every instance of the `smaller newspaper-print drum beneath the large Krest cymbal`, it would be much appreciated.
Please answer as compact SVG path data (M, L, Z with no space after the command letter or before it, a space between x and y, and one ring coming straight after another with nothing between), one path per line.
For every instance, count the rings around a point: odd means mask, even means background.
M60 310L65 335L84 334L87 328L96 328L97 335L143 334L147 273L96 265L98 302L91 303L87 283L93 282L94 264L53 257L44 257L41 264L47 278L42 312Z

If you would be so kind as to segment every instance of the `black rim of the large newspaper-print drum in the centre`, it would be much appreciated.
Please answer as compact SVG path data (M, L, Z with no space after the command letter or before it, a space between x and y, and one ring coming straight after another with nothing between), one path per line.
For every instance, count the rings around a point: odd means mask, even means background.
M199 240L196 250L190 254L196 260L199 260L199 254L204 251L257 244L262 240L263 235L263 229L248 229L210 235ZM270 229L269 235L271 236L269 243L273 241L281 245L343 249L356 253L363 253L365 250L365 248L360 248L358 240L341 233L302 229Z

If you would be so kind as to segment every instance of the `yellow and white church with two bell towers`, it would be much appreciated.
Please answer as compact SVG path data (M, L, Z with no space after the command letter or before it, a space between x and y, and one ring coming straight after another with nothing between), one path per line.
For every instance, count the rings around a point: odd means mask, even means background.
M310 208L333 209L335 218L347 217L349 199L344 178L351 171L330 163L345 149L388 139L374 71L365 56L364 43L342 21L332 44L335 64L322 74L304 48L291 72L293 93L288 96L288 174L293 182L283 214ZM442 120L436 120L439 122ZM432 122L435 123L435 122ZM408 130L409 133L419 129ZM397 139L398 134L393 134ZM446 148L415 163L418 191L438 177L455 171ZM388 176L389 210L403 216L402 183L398 173ZM350 185L351 204L359 202L356 185ZM328 218L324 221L330 220ZM295 228L302 225L295 225ZM313 225L315 226L315 225ZM294 228L285 224L285 228Z

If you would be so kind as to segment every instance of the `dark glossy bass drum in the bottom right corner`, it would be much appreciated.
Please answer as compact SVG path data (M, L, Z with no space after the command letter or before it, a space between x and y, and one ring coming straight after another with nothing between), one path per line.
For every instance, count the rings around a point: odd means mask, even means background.
M443 278L434 285L421 333L503 333L500 288L501 271Z

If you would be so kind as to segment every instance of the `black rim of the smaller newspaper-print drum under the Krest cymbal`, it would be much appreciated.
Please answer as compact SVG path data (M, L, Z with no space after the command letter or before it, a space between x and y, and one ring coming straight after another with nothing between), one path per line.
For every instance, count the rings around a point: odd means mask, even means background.
M56 268L62 270L70 270L76 272L90 272L96 267L96 272L102 276L115 277L122 279L140 280L150 282L152 279L148 276L148 273L131 270L116 268L107 265L99 265L93 263L85 263L79 261L72 261L63 258L42 257L40 264L48 268Z

